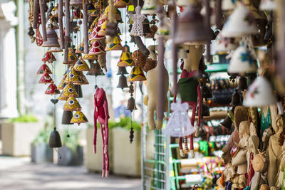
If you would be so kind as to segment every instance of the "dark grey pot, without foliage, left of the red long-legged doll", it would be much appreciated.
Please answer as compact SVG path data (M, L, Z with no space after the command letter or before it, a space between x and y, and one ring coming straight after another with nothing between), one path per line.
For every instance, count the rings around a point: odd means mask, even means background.
M76 152L73 152L66 146L58 149L58 165L60 166L78 166L83 164L83 147L78 146Z

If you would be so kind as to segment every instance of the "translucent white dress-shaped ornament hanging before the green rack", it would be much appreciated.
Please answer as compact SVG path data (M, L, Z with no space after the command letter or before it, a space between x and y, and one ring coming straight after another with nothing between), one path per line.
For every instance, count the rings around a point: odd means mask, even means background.
M191 125L188 115L189 105L182 103L180 99L171 103L171 116L165 127L165 134L170 137L185 137L193 134L194 127Z

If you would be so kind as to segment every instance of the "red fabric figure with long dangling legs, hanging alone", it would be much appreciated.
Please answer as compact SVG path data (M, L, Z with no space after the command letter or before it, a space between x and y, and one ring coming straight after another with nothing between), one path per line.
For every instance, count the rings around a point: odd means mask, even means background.
M108 112L107 96L103 88L96 88L94 95L94 141L93 148L96 153L96 137L97 137L97 120L100 124L103 139L103 171L102 176L109 176L109 155L108 155L108 120L110 118Z

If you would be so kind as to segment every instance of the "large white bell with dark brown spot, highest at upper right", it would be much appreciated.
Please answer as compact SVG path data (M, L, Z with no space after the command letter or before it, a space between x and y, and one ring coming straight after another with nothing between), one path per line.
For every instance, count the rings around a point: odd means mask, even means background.
M239 4L229 16L222 28L222 36L227 38L242 37L249 34L257 34L257 23L254 16L246 6Z

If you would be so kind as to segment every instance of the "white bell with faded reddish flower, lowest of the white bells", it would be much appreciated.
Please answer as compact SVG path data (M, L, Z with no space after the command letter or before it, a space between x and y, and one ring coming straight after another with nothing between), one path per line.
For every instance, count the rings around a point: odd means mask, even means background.
M263 107L275 103L276 98L271 84L263 77L254 80L244 97L244 106L247 107Z

